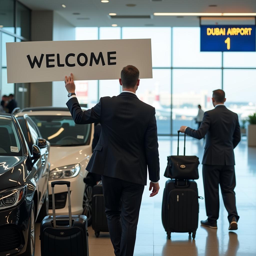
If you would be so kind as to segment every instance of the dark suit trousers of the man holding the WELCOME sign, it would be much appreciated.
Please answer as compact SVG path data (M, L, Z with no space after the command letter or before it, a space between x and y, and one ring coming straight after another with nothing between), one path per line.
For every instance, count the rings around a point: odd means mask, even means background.
M133 256L144 185L102 176L110 239L115 256Z

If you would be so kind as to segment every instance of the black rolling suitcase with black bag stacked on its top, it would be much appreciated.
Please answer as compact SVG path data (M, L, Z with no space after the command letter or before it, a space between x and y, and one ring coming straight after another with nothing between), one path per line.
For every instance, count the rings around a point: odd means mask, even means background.
M199 161L196 156L185 156L185 138L186 135L184 136L184 156L179 156L178 131L178 153L177 156L168 159L167 168L169 170L166 171L169 174L174 171L173 173L179 177L175 180L167 180L163 195L162 222L169 239L172 232L188 232L189 235L192 233L192 237L195 239L198 227L198 198L202 197L198 197L196 182L188 179L190 177L198 178ZM187 172L184 171L186 168ZM186 177L186 173L188 177Z

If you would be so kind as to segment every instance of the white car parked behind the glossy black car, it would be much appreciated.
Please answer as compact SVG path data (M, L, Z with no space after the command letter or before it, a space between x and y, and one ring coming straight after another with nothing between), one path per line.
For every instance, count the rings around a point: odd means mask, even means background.
M85 168L92 155L94 124L75 124L68 108L25 108L16 117L24 114L30 116L42 137L50 142L49 215L52 214L51 182L68 179L72 214L86 215L90 224L94 178ZM83 181L86 177L90 180L88 185ZM55 187L55 206L56 215L68 215L67 187Z

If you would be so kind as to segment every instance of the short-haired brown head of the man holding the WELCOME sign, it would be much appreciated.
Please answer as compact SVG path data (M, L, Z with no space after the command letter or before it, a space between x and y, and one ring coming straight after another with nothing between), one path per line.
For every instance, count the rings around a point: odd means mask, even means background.
M138 79L140 71L132 66L128 65L121 71L121 80L124 88L134 88Z

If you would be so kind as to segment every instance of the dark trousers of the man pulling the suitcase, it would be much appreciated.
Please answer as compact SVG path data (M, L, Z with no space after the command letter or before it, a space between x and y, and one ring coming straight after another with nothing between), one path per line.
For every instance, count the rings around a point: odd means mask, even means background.
M219 218L219 185L224 205L228 211L228 220L239 219L236 208L235 168L233 165L203 165L203 181L205 191L206 215L210 223L216 223Z

